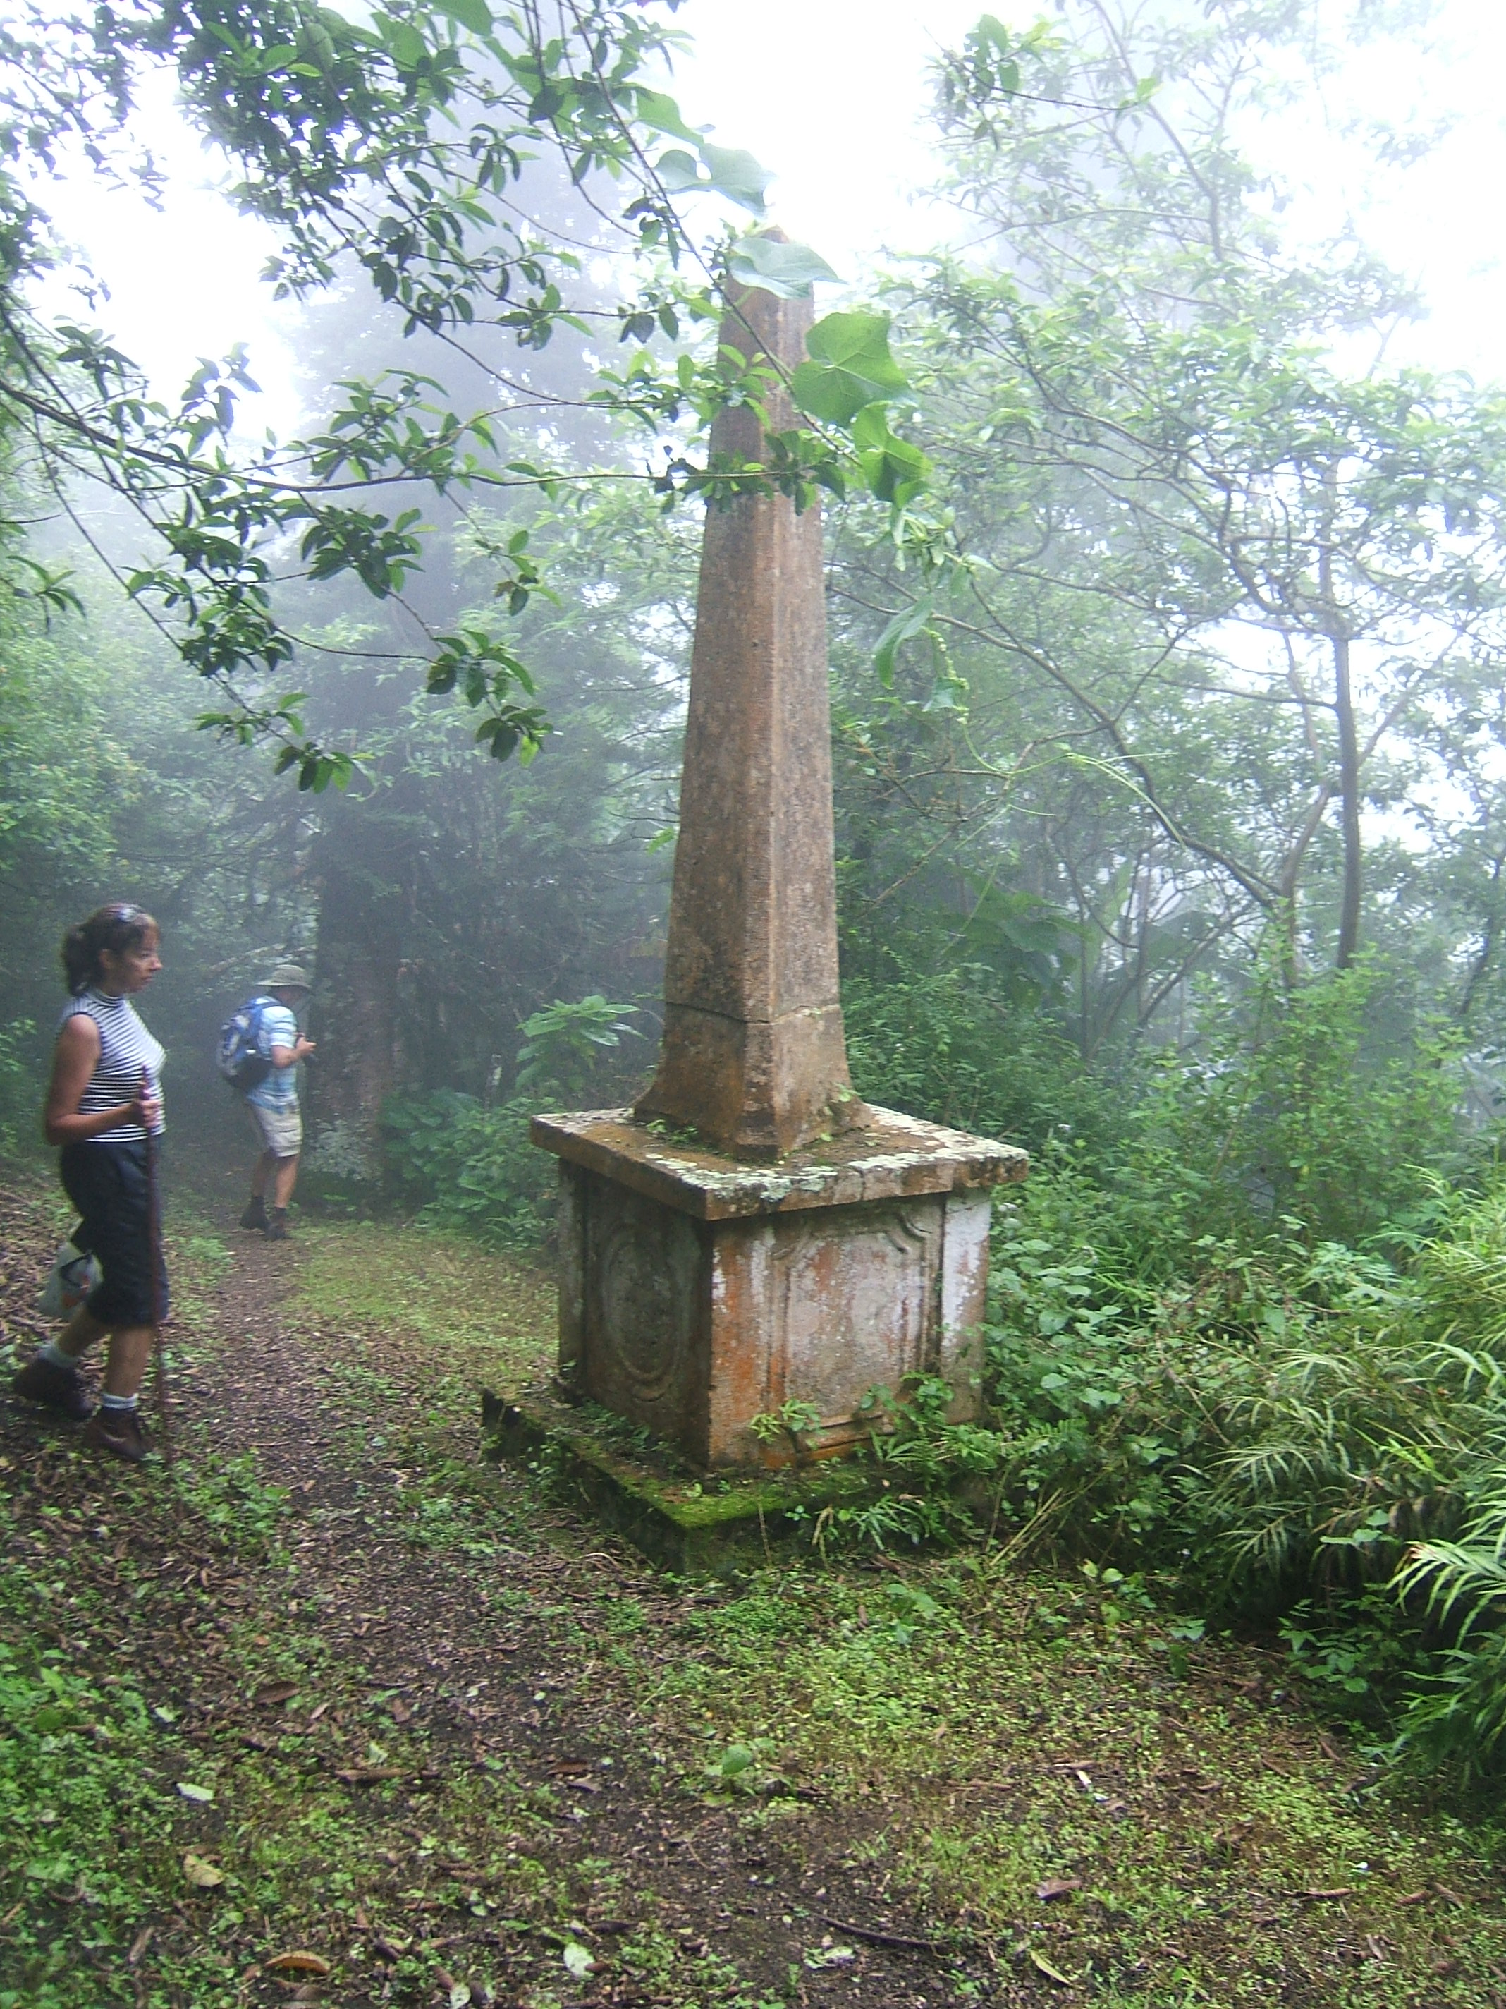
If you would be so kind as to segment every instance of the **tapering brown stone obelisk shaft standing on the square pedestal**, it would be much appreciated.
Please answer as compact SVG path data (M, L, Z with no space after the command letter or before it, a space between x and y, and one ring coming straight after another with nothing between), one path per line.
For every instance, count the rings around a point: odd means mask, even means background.
M779 372L769 432L795 424L809 299L733 289L723 352ZM711 464L767 464L759 414L711 428ZM669 908L665 1039L639 1101L735 1157L783 1157L851 1121L837 994L821 510L745 494L707 510Z

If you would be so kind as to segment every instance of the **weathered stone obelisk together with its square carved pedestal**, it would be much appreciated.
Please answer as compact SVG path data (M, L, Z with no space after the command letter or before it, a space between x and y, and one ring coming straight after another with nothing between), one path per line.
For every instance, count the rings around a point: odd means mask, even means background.
M733 287L721 340L783 382L809 325ZM765 410L795 424L777 386ZM761 462L759 416L725 410L711 452ZM566 1394L723 1471L837 1453L920 1374L976 1412L990 1189L1026 1155L847 1079L815 506L707 510L659 1069L635 1109L532 1139L560 1159Z

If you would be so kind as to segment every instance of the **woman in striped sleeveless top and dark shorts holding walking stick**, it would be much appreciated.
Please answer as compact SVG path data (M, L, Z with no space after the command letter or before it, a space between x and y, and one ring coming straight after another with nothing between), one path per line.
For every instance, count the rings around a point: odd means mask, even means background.
M137 1398L157 1326L167 1316L167 1268L157 1227L149 1135L163 1131L163 1049L131 998L161 970L151 914L102 906L62 942L68 1002L58 1021L42 1127L62 1145L62 1187L82 1217L80 1246L104 1282L56 1340L16 1374L16 1394L64 1416L88 1416L84 1442L139 1465L147 1432ZM78 1362L108 1334L104 1392L90 1414Z

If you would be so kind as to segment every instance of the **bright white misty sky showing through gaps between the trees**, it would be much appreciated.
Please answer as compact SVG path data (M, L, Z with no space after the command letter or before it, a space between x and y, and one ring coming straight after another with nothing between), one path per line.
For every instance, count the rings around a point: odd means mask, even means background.
M948 229L944 215L910 201L930 171L926 60L960 40L978 12L980 0L930 0L924 10L898 0L689 0L679 24L695 54L675 90L695 125L713 125L723 145L749 147L779 175L773 213L789 235L859 279L882 247L924 249ZM1375 249L1424 283L1432 317L1406 331L1394 360L1506 378L1502 74L1506 8L1446 0L1424 52L1361 52L1329 98L1339 119L1452 117L1430 159L1363 185L1357 153L1323 141L1311 121L1251 135L1251 147L1297 183L1297 215L1315 233L1357 213ZM145 117L173 169L161 215L86 177L56 191L58 221L110 289L96 317L161 390L177 390L197 358L245 340L265 386L247 418L287 432L297 424L289 319L257 279L271 237L213 193L217 163L177 125L165 88Z

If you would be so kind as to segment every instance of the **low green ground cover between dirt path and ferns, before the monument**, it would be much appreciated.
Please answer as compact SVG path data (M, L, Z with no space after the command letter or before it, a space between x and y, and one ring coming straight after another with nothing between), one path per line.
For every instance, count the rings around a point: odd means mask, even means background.
M1494 1834L1392 1798L1273 1655L1197 1631L996 1551L771 1571L687 1621L645 1708L689 1788L793 1850L841 1820L849 1866L1042 1999L1496 2001Z

